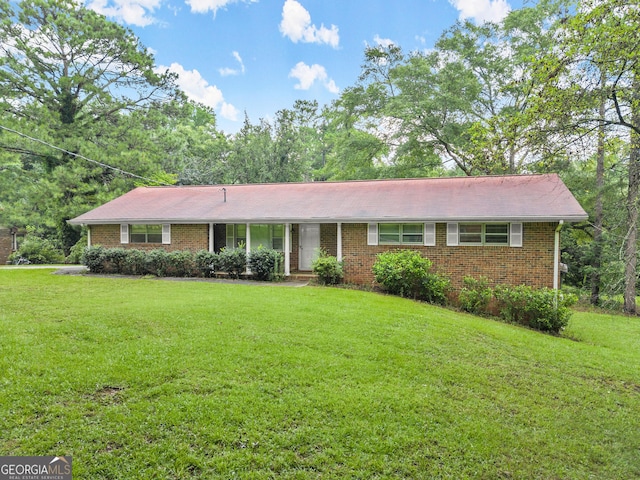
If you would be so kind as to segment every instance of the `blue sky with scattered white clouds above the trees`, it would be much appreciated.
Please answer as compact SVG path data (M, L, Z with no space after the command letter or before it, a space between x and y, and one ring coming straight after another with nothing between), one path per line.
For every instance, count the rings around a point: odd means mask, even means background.
M526 0L525 0L526 1ZM499 21L523 0L89 0L133 30L190 98L237 132L297 99L328 104L360 74L366 45L433 47L457 19Z

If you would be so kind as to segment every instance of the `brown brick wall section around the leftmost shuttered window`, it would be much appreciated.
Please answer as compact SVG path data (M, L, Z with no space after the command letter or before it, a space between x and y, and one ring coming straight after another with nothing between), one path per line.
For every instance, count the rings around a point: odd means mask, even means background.
M120 243L120 225L91 225L91 244L107 248L122 247L138 250L164 248L174 250L190 250L197 252L209 248L209 225L171 225L171 245L160 243Z

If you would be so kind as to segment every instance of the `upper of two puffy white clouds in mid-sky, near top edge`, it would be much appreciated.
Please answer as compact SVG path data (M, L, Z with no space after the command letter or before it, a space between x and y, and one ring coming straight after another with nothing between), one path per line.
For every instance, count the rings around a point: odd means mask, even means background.
M307 9L296 0L284 2L280 32L294 43L300 41L303 43L326 43L333 48L338 48L340 43L338 27L335 25L331 25L331 28L324 25L320 25L320 28L316 27L311 23L311 15Z

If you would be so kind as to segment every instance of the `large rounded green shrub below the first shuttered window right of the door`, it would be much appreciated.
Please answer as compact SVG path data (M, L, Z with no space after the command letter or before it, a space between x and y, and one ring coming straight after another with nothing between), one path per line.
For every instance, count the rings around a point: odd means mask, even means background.
M373 264L376 282L389 293L401 297L420 298L431 261L415 250L379 253Z

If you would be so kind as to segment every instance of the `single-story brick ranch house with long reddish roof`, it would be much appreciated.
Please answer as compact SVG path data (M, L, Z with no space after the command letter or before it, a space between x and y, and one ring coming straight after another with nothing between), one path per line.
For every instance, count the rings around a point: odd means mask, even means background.
M140 187L70 220L89 245L220 251L263 245L286 276L320 250L370 284L376 255L419 250L454 286L464 276L557 288L560 229L587 214L555 174Z

